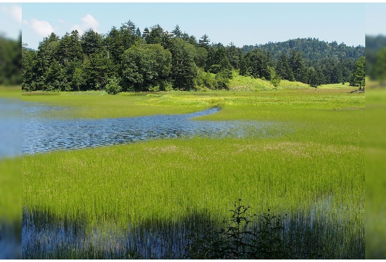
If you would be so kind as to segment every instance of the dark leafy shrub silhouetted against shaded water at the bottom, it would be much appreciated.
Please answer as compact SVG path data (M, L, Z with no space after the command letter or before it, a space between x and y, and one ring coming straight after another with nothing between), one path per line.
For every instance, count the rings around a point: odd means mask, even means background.
M207 228L192 234L191 244L185 247L187 259L316 259L321 258L322 247L307 250L307 241L293 241L284 238L284 220L287 214L271 216L249 215L249 206L235 203L235 209L230 210L232 216L223 221L225 228L220 230ZM269 212L270 210L268 210ZM260 218L259 227L253 218ZM256 219L255 219L256 220ZM306 238L308 239L308 238Z

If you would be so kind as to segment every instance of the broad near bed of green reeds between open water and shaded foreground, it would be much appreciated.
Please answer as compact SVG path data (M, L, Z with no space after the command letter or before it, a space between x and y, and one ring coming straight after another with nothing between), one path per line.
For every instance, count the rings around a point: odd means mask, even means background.
M218 209L239 195L267 208L296 209L303 197L315 200L330 192L346 199L341 192L363 189L360 148L295 144L165 140L26 156L23 202L56 215L81 212L92 223L111 216L125 225L145 218L178 219L186 210L175 213L175 201L181 207ZM353 159L356 164L349 162ZM49 164L42 169L43 163ZM293 179L297 182L289 183ZM234 187L236 181L243 186ZM190 193L185 194L186 190ZM157 199L156 205L152 199Z

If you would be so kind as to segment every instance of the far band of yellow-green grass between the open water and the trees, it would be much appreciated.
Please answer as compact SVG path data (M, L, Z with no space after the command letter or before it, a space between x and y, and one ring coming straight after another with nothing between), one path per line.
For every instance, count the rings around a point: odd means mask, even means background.
M363 107L364 96L343 89L279 89L259 92L207 91L120 93L88 92L23 93L22 101L47 103L65 109L48 112L60 118L117 118L154 114L186 114L212 106L273 106L275 108L342 109ZM47 95L46 95L47 93ZM51 95L56 94L56 95ZM339 100L336 100L336 95Z

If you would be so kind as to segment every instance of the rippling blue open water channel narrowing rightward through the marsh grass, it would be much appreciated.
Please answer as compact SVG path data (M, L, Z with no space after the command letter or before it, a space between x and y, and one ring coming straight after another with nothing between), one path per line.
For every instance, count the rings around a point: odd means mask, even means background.
M283 127L273 122L193 120L195 117L215 114L221 110L220 107L181 115L64 120L45 117L44 113L49 110L65 108L23 102L23 155L161 138L269 137L284 132Z

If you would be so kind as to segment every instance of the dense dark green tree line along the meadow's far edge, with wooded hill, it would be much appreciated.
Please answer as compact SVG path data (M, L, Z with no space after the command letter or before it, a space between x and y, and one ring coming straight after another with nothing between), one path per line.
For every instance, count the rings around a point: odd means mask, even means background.
M226 89L235 70L241 76L265 79L275 86L283 79L311 86L343 82L357 85L354 71L361 57L355 51L357 47L339 45L347 51L344 57L326 52L323 57L308 60L308 45L304 46L289 50L255 46L246 50L233 43L211 43L206 34L196 39L178 25L171 32L158 24L141 32L129 20L106 34L93 29L82 35L74 30L62 37L51 33L38 50L23 44L22 89L106 89L110 93Z

